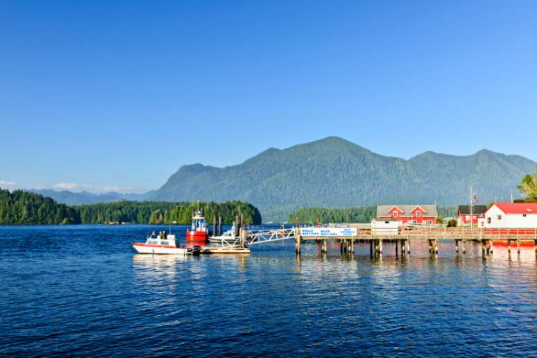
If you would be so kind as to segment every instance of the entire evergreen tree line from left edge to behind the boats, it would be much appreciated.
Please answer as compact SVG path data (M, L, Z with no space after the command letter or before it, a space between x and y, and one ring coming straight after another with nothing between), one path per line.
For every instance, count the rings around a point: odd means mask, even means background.
M197 203L170 203L152 201L119 201L90 205L68 206L52 198L28 191L0 189L0 224L78 224L78 223L178 223L189 224ZM208 223L222 217L222 223L231 224L235 216L245 223L259 224L259 210L241 201L200 203L200 210Z

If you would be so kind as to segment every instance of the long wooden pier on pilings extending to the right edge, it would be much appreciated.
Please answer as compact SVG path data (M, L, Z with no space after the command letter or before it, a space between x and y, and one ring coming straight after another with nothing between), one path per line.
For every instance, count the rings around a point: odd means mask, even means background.
M506 243L511 253L513 244L520 254L522 244L534 244L537 255L537 228L520 229L477 229L477 228L399 228L396 231L370 228L359 228L353 236L307 236L300 235L300 228L293 228L296 254L300 255L300 245L303 241L317 241L321 244L321 253L326 253L328 241L339 242L341 253L355 253L355 244L368 242L371 255L382 255L384 242L395 242L395 254L399 250L402 255L410 255L411 246L417 242L427 242L429 253L438 255L441 241L454 243L456 253L466 254L468 241L481 243L483 255L492 255L495 242Z

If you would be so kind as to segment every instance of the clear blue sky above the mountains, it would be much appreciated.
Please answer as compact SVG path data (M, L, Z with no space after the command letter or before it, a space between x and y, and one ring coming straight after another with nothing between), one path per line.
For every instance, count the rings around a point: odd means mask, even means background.
M537 1L0 2L2 187L144 191L329 135L537 160L536 113Z

